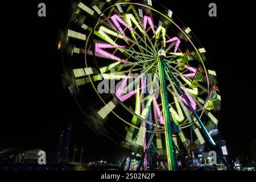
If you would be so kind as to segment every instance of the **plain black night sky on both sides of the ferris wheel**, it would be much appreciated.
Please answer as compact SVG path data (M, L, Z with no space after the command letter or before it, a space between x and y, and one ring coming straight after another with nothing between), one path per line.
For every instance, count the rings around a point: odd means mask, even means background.
M39 2L47 5L46 18L37 15ZM255 137L255 60L247 44L253 42L250 5L236 1L158 2L174 11L207 50L222 99L222 139L231 154L249 153L250 138ZM217 3L217 17L208 16L210 2ZM72 117L71 146L84 145L86 160L122 159L125 153L117 144L86 127L84 117L77 115L80 109L75 100L61 86L63 68L56 45L59 28L68 22L69 1L22 1L8 12L2 16L0 148L42 148L51 153L59 131L65 130ZM92 94L91 100L98 98ZM125 134L125 125L110 119L119 133ZM122 139L113 132L110 136Z

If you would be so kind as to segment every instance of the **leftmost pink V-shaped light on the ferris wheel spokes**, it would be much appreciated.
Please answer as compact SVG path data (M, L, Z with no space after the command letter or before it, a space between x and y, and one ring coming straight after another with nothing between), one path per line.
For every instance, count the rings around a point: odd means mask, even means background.
M98 53L99 55L105 56L106 58L117 60L122 63L126 63L125 60L120 59L119 57L114 56L111 53L108 53L103 50L104 48L124 48L124 47L125 46L113 46L112 44L95 43L95 52Z

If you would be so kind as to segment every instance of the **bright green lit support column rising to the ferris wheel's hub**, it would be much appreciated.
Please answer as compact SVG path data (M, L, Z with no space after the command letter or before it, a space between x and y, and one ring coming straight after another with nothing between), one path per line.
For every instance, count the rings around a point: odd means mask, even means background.
M164 132L166 140L166 154L168 162L168 170L176 170L176 158L172 145L172 126L170 111L168 109L168 96L166 89L166 79L164 75L164 67L162 61L164 61L165 52L162 50L158 53L158 69L159 69L159 81L160 81L160 96L162 99L163 117L164 117Z

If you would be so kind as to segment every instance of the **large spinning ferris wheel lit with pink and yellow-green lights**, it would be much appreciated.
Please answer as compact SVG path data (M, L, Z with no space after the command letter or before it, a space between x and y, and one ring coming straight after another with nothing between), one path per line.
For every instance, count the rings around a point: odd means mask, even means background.
M122 144L141 159L139 169L157 160L177 170L182 152L216 145L216 72L171 10L151 0L81 1L58 47L69 89L93 87L102 101L97 117L125 123Z

